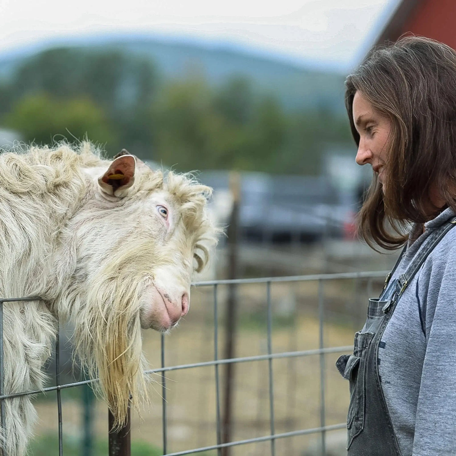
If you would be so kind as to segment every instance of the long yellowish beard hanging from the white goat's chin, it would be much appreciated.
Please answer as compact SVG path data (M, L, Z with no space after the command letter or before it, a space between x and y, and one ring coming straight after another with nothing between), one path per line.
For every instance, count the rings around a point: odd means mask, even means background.
M108 280L98 276L88 286L84 305L73 308L75 353L90 378L99 378L94 390L107 402L114 429L125 424L130 404L139 410L139 404L148 400L140 326L141 284L132 282L131 276Z

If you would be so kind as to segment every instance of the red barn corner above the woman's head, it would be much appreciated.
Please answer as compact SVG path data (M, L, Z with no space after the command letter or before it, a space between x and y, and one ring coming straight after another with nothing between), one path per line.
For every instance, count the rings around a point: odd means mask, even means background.
M456 0L401 0L375 44L412 32L456 49L455 20Z

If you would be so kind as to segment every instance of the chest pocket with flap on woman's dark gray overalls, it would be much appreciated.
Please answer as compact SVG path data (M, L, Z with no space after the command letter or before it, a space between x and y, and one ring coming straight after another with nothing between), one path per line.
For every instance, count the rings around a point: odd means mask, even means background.
M366 403L366 358L373 332L355 333L352 355L342 355L336 366L342 377L350 382L350 405L347 415L347 450L353 439L364 427L364 410Z

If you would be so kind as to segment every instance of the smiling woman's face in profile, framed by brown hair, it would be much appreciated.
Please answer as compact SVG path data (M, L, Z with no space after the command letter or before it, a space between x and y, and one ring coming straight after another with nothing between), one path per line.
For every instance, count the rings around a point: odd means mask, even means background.
M372 105L358 91L353 98L353 122L359 133L359 147L356 154L358 165L369 163L383 183L383 167L388 150L391 121L378 114Z

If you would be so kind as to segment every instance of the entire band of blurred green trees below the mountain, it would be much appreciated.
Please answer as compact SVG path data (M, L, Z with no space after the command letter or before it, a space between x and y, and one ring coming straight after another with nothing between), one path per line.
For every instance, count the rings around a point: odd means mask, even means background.
M111 155L126 148L180 171L315 174L328 147L352 144L344 117L285 111L245 78L218 87L197 76L163 81L148 58L98 48L26 60L0 84L0 125L37 143L87 133Z

